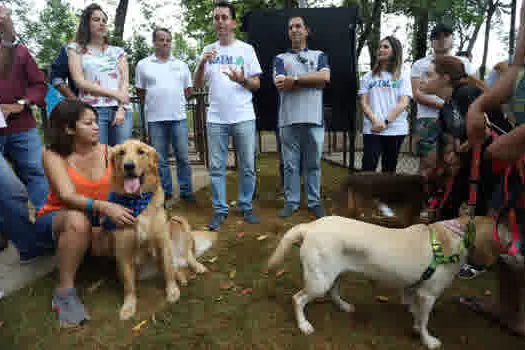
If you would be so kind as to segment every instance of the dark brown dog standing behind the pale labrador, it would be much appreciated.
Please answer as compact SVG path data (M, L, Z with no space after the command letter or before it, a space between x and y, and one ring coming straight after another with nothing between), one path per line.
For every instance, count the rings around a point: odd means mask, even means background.
M350 174L335 198L332 212L392 228L419 223L425 191L419 175L362 172ZM380 203L386 203L394 217L378 214Z

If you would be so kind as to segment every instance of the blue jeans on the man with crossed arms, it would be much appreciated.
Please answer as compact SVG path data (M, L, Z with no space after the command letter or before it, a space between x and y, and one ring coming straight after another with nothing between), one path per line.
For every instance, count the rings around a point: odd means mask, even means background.
M281 127L280 139L284 167L284 196L287 205L293 209L299 208L301 173L304 176L308 208L320 205L324 127L312 124Z

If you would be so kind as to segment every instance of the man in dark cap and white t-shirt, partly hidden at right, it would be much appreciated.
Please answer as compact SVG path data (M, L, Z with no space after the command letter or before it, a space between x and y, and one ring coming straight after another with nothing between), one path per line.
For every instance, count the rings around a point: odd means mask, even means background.
M417 102L416 122L416 153L422 164L427 156L434 151L437 137L437 117L444 101L435 95L426 95L420 89L421 80L428 75L428 67L436 56L451 55L454 43L453 29L443 23L437 24L430 33L432 40L432 55L423 57L412 65L412 95ZM476 71L465 57L458 57L465 64L465 71L469 75L475 75ZM421 167L420 167L421 169Z

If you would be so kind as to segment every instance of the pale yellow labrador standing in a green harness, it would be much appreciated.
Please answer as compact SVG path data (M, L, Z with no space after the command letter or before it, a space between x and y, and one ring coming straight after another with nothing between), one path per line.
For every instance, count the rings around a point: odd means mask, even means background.
M275 269L292 244L302 241L300 255L305 287L293 296L293 304L297 325L305 334L312 333L314 328L305 317L304 307L327 292L343 311L354 310L354 306L339 295L338 277L346 271L360 272L403 290L403 302L409 305L414 316L413 329L427 348L436 349L441 342L429 334L428 319L436 299L451 284L466 260L463 228L467 222L468 218L462 217L393 229L327 216L290 229L270 258L268 268ZM478 261L494 263L498 254L491 248L493 220L476 217L475 224L474 246L480 257ZM500 227L501 232L505 230ZM432 271L432 263L439 259L435 247L439 248L441 256L455 258L438 263Z

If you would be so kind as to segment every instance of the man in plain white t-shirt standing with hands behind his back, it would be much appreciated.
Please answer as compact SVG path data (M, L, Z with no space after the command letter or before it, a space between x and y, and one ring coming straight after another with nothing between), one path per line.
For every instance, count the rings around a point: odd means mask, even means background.
M141 60L136 67L135 86L148 121L153 147L159 153L159 173L169 205L173 196L170 145L177 161L180 198L195 203L188 158L188 122L186 98L192 94L188 65L171 55L171 33L166 28L153 31L155 54Z

